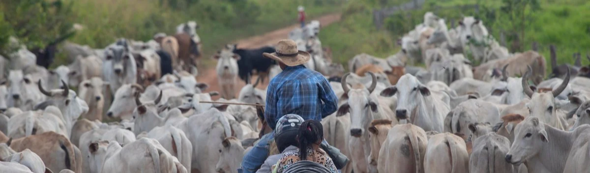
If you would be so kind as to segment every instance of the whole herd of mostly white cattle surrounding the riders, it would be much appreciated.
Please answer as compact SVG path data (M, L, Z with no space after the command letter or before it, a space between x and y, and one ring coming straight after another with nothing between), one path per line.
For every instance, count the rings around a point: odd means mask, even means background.
M346 74L322 47L319 21L290 32L312 54L305 66L339 97L322 124L350 159L342 172L588 171L589 67L546 79L539 53L509 53L479 19L458 24L428 12L399 53L359 54ZM37 66L24 45L0 57L0 172L237 172L269 131L261 110L203 102L264 104L259 85L281 69L258 71L235 93L240 60L256 59L227 45L212 56L219 92L202 93L197 28L189 21L173 36L101 49L65 43L71 64L54 70Z

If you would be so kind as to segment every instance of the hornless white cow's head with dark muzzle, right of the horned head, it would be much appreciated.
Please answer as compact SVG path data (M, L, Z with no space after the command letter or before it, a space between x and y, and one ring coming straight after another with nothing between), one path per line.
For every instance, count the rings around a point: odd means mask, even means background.
M381 92L381 96L398 97L398 107L395 115L398 119L409 119L414 114L418 104L424 100L424 97L430 96L430 89L420 83L418 79L411 74L405 74L398 80L398 84L386 88Z

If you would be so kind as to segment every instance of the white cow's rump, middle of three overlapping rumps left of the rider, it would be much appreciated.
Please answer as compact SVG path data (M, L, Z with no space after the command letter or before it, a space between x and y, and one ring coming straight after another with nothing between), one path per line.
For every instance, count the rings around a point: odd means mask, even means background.
M158 140L184 167L191 168L192 143L181 129L172 125L156 127L150 130L146 137Z

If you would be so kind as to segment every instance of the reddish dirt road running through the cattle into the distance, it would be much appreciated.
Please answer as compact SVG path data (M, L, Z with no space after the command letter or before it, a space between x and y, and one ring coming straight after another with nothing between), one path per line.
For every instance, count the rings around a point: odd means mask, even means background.
M333 22L340 21L340 14L330 14L324 15L322 17L316 18L316 20L320 21L322 27L332 24ZM264 35L257 35L250 38L245 38L242 40L234 41L233 43L237 43L239 48L258 48L263 47L265 45L274 45L278 43L278 41L286 39L289 35L289 32L292 31L294 28L300 27L299 24L294 24L289 27L281 28L279 30L275 30L272 32L268 32ZM258 76L253 76L252 81L256 81ZM199 67L199 76L196 77L196 80L202 83L209 84L209 88L205 90L205 92L217 91L219 92L221 87L219 87L217 83L217 74L215 73L215 66L201 66ZM245 85L244 81L240 79L236 79L238 81L237 85L235 86L235 93L236 98L238 97L238 93L240 93L240 89ZM258 88L266 89L268 86L268 80L264 83L259 84ZM213 99L217 99L218 97L214 97Z

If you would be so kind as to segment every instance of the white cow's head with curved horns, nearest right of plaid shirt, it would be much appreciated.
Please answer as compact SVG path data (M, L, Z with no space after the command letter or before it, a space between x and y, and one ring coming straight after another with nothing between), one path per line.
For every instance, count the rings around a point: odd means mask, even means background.
M344 95L342 99L348 100L348 102L340 105L337 110L336 116L343 116L346 113L350 113L350 135L359 138L365 134L365 129L369 128L373 120L373 114L378 113L379 100L373 93L377 86L377 77L372 72L368 72L372 77L371 86L365 89L365 87L355 87L350 89L346 78L350 73L346 73L342 77L342 89Z

